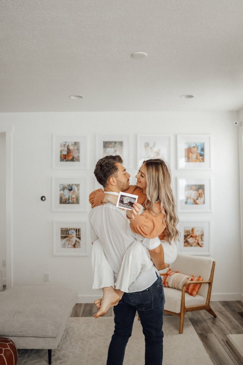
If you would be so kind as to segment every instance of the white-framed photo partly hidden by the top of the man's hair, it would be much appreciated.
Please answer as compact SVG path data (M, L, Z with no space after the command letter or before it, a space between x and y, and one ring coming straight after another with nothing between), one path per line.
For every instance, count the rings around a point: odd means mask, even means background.
M120 155L124 166L130 167L128 135L96 135L96 162L109 155Z

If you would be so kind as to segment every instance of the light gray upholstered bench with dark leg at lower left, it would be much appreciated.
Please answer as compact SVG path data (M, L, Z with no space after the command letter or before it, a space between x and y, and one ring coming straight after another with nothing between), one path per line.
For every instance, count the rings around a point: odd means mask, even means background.
M0 336L17 349L56 349L77 302L64 287L13 287L0 292Z

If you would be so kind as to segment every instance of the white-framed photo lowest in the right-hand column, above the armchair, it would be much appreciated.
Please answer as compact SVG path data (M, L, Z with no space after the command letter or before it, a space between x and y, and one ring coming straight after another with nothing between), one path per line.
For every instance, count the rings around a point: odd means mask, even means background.
M180 221L180 242L177 250L192 255L210 255L210 221Z

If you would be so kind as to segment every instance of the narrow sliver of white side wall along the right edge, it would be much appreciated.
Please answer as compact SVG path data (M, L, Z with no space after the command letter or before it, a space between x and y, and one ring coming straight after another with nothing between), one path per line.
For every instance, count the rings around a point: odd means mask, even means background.
M243 109L239 111L240 191L241 191L241 291L243 301Z

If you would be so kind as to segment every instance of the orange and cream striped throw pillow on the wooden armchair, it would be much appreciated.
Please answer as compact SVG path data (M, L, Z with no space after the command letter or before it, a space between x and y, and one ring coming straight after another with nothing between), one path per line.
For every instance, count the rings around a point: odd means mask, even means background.
M194 277L194 276L188 276L185 274L181 274L178 271L171 271L171 269L168 269L168 271L163 275L163 286L169 287L169 288L175 288L182 290L183 285L187 281L202 281L203 278L201 276ZM189 295L196 296L198 293L198 290L200 289L202 284L188 284L186 287L186 292Z

